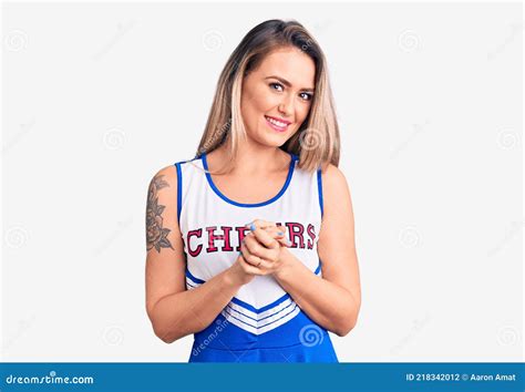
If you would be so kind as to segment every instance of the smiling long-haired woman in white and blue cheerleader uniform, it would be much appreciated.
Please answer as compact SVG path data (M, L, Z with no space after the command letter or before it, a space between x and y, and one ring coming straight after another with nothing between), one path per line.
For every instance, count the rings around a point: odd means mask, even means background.
M350 192L327 63L268 20L219 78L195 158L148 188L146 309L189 362L338 362L361 306ZM322 260L322 261L321 261Z

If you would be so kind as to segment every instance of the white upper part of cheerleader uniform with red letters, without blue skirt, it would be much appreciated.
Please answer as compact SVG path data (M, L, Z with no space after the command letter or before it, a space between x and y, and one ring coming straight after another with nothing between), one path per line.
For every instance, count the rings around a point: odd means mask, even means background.
M322 217L320 169L308 173L297 167L296 155L290 154L290 158L288 176L280 192L257 204L237 203L225 196L206 173L206 154L175 164L179 184L178 224L186 254L188 290L236 262L239 244L249 231L245 226L254 219L286 226L291 243L288 250L309 270L321 276L317 252ZM222 316L241 330L260 336L288 323L300 312L274 277L256 276L240 287Z

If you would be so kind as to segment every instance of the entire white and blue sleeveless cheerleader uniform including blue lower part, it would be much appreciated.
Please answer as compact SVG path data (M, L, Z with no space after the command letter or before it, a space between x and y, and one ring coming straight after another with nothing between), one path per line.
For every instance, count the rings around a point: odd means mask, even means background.
M186 289L231 267L254 219L288 228L288 250L322 277L317 241L322 218L320 168L296 167L267 202L237 203L207 173L206 154L175 163L178 224L186 256ZM192 314L188 314L192 317ZM194 334L189 362L339 362L328 331L311 320L271 276L255 276L204 330Z

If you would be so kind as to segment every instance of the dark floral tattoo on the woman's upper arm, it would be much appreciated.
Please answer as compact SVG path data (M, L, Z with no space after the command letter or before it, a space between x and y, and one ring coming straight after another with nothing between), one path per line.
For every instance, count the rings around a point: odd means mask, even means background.
M167 239L167 235L172 230L163 227L162 213L165 206L158 205L158 190L169 186L162 177L164 175L156 175L150 183L146 208L147 250L155 248L158 252L161 252L161 248L173 249L172 244Z

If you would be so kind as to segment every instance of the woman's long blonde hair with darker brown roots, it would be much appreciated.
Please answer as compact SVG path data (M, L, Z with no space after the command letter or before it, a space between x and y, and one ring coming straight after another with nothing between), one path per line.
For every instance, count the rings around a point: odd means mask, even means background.
M281 48L296 48L316 64L310 111L299 130L280 148L299 156L298 166L312 172L328 163L339 165L339 126L328 79L325 54L313 37L295 20L267 20L253 28L229 56L217 82L212 110L196 157L226 144L231 159L217 173L229 173L239 144L246 138L240 113L243 80L266 55Z

